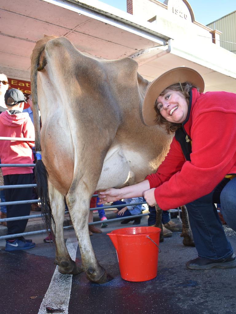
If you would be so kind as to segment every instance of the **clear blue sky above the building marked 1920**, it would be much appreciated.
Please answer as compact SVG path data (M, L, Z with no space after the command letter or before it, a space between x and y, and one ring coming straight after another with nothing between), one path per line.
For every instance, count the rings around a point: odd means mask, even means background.
M126 0L100 0L126 12ZM164 2L164 0L160 0ZM236 10L236 0L189 0L195 20L206 25Z

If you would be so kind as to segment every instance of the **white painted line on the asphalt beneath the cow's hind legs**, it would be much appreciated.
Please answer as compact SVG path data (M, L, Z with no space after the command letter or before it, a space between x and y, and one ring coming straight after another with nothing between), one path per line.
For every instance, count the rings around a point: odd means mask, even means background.
M76 251L78 241L76 238L68 238L66 241L67 250L71 259L76 259ZM68 314L68 306L70 300L70 290L72 283L72 275L61 274L56 267L48 291L46 292L38 314L48 314L47 307L58 309L56 313Z

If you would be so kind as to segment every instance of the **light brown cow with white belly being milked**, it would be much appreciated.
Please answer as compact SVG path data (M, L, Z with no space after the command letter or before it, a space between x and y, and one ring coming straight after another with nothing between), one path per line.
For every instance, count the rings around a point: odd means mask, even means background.
M55 263L61 273L83 270L97 283L110 277L98 264L89 238L93 192L142 181L156 171L172 140L161 127L143 123L142 103L149 82L137 68L137 62L128 57L88 56L64 37L45 36L31 57L35 146L42 151L42 160L36 164L37 184L42 208L54 220ZM65 200L82 268L71 260L65 246Z

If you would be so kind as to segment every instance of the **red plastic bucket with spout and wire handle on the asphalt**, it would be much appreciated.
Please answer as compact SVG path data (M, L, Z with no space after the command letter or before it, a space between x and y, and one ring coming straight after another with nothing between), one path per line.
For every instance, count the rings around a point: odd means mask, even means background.
M121 278L147 281L156 277L160 228L130 227L107 235L115 246Z

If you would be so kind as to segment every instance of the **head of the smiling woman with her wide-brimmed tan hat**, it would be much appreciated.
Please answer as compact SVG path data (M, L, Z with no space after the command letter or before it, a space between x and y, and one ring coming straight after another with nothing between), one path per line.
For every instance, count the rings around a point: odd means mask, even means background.
M174 132L187 117L186 110L188 111L192 88L195 87L198 91L203 92L204 85L201 75L187 67L178 67L163 73L152 81L147 89L143 101L145 124L148 126L164 124L168 132ZM171 109L177 106L177 101L180 102L178 118L171 119L172 116L169 113ZM180 111L183 111L182 114L180 114Z

